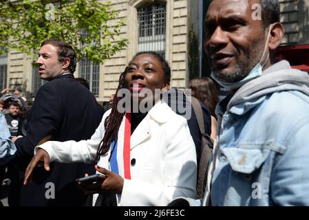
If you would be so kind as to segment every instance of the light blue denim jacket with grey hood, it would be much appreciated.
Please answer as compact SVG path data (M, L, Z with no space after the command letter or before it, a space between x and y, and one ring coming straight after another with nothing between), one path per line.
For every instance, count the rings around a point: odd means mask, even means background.
M189 203L309 206L308 74L276 63L242 86L226 109L218 104L216 113L204 201Z

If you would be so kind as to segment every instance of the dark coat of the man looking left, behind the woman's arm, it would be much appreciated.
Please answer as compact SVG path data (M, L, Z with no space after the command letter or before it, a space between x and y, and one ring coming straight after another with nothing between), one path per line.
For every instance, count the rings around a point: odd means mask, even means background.
M15 142L19 184L34 155L34 147L43 137L52 136L52 140L59 142L87 140L99 123L94 95L76 82L72 74L45 83L37 92L30 110L27 136ZM77 188L75 180L85 173L94 173L94 164L54 162L50 168L50 172L43 170L43 167L36 168L32 184L22 186L21 206L83 206L85 195ZM53 186L55 198L46 199L46 196L52 197Z

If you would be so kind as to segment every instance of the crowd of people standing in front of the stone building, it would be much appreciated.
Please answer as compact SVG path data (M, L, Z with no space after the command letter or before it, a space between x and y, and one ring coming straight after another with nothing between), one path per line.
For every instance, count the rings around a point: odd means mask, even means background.
M261 19L251 16L256 3ZM36 63L48 82L30 113L17 91L2 91L10 206L308 206L309 76L275 63L279 2L213 0L204 32L211 77L189 83L200 113L170 88L171 68L156 52L131 59L103 109L87 80L74 78L72 46L44 41ZM220 100L217 85L230 94ZM198 199L205 134L214 143Z

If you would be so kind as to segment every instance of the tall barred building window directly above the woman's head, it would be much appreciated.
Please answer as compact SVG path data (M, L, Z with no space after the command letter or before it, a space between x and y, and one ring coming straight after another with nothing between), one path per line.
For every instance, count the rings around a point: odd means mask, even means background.
M147 5L138 9L138 51L155 51L165 56L166 6Z

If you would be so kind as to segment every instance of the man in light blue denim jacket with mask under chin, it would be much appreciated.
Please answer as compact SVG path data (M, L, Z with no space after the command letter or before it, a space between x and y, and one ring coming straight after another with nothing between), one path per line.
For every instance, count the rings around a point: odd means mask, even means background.
M309 206L309 76L274 62L284 35L278 1L214 0L204 28L211 76L232 92L216 108L204 199L186 200Z

